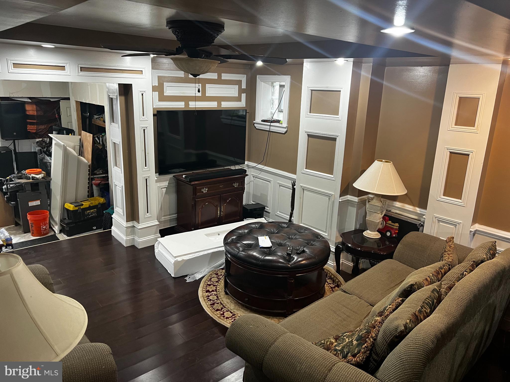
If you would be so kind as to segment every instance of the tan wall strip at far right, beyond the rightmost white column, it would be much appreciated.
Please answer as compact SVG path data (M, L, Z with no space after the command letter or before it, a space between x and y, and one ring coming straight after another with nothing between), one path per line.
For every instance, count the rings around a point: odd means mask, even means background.
M501 102L495 123L487 172L478 192L478 216L473 223L510 231L510 71L506 72ZM478 201L477 201L478 202Z

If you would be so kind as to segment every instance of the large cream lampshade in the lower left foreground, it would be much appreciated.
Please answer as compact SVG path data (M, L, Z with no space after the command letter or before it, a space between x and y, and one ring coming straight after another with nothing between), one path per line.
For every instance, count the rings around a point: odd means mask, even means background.
M18 255L0 254L0 361L59 361L86 328L80 303L47 290Z

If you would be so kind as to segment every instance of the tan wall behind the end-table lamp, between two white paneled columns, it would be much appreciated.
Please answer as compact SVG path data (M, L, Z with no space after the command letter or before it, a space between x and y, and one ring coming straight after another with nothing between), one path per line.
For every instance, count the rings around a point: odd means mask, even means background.
M393 161L407 194L388 199L427 208L448 67L387 67L375 159Z

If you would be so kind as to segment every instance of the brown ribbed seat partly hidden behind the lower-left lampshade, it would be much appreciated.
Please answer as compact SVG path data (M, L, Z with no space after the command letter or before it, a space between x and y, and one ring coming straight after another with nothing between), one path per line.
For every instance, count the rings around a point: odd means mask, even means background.
M48 270L40 265L28 265L32 274L49 291L55 293ZM63 382L116 382L117 365L112 350L104 343L91 343L83 336L78 345L62 359Z

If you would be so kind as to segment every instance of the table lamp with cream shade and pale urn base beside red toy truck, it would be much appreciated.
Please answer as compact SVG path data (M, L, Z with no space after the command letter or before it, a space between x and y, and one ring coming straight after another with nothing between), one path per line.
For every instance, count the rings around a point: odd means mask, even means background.
M378 239L381 237L377 230L381 226L382 216L386 212L386 200L381 195L403 195L407 193L404 184L393 166L393 162L377 159L353 184L354 187L373 194L367 199L367 228L363 234L366 237Z

